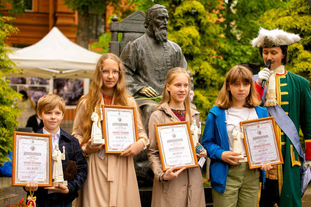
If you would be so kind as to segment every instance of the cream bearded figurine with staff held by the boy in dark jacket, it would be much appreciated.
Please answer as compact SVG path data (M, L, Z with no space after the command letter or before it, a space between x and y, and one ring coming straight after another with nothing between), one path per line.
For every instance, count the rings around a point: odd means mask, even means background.
M52 178L64 178L62 160L65 160L65 146L63 146L63 153L61 153L58 145L56 144L52 154L52 158L54 160Z

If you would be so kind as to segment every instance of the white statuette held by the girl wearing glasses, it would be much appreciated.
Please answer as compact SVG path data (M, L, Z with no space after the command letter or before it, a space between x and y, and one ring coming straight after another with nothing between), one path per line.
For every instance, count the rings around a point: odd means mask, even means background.
M103 110L100 108L100 117L97 113L97 108L94 108L94 112L92 113L91 120L93 121L92 132L91 132L91 146L99 146L105 143L103 139L103 130L101 127L100 121L103 120Z

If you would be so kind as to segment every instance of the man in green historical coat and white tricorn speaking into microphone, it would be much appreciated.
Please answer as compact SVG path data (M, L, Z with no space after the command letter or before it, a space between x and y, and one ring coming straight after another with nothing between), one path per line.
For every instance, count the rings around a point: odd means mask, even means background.
M309 81L285 70L288 45L298 42L297 34L261 28L252 46L259 48L263 61L271 62L270 70L262 69L255 78L255 87L262 96L269 114L275 117L276 131L284 164L267 171L259 206L299 207L301 178L310 173L311 163L311 92ZM257 79L256 79L257 78ZM267 86L262 89L262 81ZM305 139L305 155L299 141L299 125ZM306 161L305 161L306 160ZM304 167L305 166L305 167Z

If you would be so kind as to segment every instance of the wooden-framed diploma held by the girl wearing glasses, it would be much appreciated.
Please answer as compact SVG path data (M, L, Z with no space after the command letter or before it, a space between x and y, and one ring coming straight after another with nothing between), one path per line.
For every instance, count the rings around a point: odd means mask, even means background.
M102 105L105 153L121 154L138 140L135 107Z

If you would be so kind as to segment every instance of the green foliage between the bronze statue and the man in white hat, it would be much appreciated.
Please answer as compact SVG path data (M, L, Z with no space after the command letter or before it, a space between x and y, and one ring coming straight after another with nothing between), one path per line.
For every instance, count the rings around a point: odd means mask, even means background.
M205 119L223 85L225 74L236 64L261 62L258 49L250 41L257 36L259 17L273 7L274 1L196 1L178 5L169 22L169 39L179 44L193 72L193 103Z

